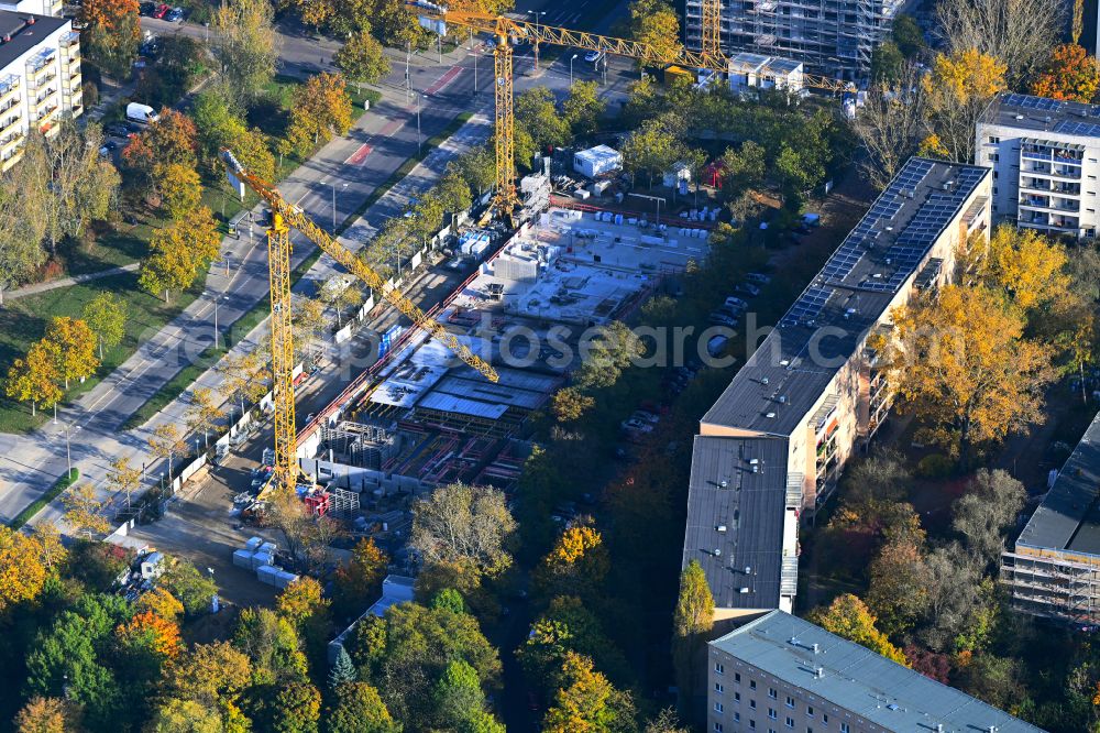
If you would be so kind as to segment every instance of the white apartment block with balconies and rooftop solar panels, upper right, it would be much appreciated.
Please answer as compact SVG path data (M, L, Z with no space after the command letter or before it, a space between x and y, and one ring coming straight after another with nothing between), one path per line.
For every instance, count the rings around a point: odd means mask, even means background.
M993 219L1096 237L1100 108L1002 94L976 129L975 163L993 169Z

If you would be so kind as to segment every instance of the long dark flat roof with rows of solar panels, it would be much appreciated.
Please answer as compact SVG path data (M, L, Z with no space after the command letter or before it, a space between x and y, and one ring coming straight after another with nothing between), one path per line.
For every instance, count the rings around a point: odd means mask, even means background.
M702 422L790 435L988 175L911 157Z

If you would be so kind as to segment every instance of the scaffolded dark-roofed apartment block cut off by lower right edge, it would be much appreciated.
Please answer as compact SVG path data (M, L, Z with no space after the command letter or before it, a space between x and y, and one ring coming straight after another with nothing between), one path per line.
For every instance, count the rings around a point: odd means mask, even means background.
M1013 608L1100 623L1100 414L1092 418L1015 546L1001 556Z

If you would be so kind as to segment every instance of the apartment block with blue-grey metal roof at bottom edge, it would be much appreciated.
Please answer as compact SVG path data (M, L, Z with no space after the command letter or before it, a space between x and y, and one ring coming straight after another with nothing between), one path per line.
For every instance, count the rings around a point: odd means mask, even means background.
M1042 733L783 611L714 639L707 657L711 733Z

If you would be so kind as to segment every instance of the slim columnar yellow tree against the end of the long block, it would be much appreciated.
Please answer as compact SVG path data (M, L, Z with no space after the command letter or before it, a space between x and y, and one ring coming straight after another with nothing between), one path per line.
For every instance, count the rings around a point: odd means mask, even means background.
M714 597L706 573L697 560L692 560L680 573L680 598L672 622L672 663L675 666L682 709L689 709L705 689L700 670L705 668L700 654L706 648L706 635L714 627Z

